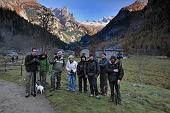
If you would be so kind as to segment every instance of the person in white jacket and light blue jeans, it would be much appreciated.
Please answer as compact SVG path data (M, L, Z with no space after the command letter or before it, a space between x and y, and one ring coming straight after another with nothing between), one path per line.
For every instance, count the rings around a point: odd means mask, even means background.
M74 60L74 56L68 57L66 70L68 72L68 91L76 91L76 71L78 63Z

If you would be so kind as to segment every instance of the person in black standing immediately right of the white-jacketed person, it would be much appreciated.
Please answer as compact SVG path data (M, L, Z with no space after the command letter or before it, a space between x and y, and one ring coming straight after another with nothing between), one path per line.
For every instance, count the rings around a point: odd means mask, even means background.
M84 83L84 92L87 92L87 76L86 76L86 56L81 56L81 61L77 65L77 75L79 82L79 91L82 92L82 82Z

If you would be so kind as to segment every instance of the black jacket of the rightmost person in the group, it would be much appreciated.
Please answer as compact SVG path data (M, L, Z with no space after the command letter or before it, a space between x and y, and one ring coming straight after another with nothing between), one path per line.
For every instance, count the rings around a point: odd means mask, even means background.
M114 72L114 69L118 69L118 72ZM106 70L108 72L109 81L122 80L124 76L124 70L119 62L115 64L109 63Z

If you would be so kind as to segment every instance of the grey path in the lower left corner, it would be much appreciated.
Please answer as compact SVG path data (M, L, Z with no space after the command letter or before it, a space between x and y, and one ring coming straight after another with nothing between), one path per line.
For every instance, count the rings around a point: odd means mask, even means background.
M25 89L0 80L0 113L54 113L42 95L25 98Z

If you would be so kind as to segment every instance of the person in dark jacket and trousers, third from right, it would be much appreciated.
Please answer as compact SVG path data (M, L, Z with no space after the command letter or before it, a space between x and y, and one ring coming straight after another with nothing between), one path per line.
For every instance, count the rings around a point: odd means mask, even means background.
M86 65L86 75L90 84L90 97L96 96L99 99L99 92L97 88L97 77L98 77L98 64L96 63L94 56L90 54L89 60Z

